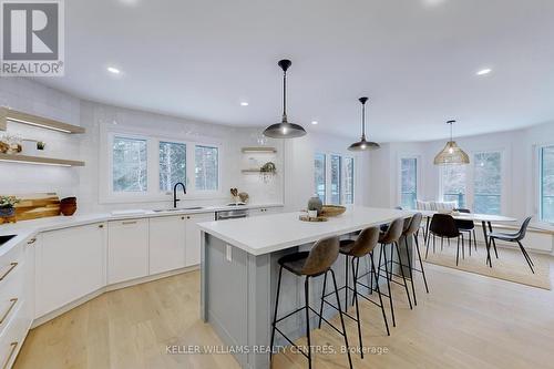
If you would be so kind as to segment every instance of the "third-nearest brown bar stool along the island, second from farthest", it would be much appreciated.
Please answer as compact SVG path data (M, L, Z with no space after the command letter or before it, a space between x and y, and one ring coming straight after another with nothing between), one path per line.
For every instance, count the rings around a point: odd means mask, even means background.
M397 321L394 319L394 306L392 304L392 289L390 288L390 283L396 283L400 286L404 286L406 289L406 296L408 297L408 304L410 305L410 309L412 309L412 301L410 298L410 293L408 291L408 283L406 281L406 276L404 276L404 269L400 268L401 275L399 276L398 274L394 274L392 271L392 260L393 260L393 254L394 249L397 250L398 259L400 260L400 249L398 246L398 242L400 240L400 237L402 236L402 232L404 228L404 218L397 218L394 219L390 226L388 227L386 233L381 233L379 236L379 244L381 244L381 249L379 250L379 267L378 267L378 273L377 273L377 284L379 284L379 278L382 276L381 271L382 268L384 267L384 277L387 278L387 293L388 294L382 294L389 298L390 303L390 312L392 315L392 327L397 326ZM390 270L389 270L389 260L387 258L387 252L386 252L386 246L390 245ZM381 264L381 259L384 259L384 263ZM393 277L402 277L402 283L394 280Z

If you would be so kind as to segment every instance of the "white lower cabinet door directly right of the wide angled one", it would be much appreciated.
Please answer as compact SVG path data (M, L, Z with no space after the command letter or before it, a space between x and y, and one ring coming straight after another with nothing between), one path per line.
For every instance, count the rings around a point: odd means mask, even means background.
M148 219L107 223L107 284L148 275Z

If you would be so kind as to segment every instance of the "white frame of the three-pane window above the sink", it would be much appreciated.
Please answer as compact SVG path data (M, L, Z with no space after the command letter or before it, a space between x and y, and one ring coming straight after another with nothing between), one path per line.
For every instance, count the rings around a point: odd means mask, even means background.
M147 192L114 192L113 191L113 137L129 137L145 140L147 147ZM225 155L224 146L219 142L207 139L189 140L186 135L168 137L151 130L141 130L129 126L103 124L100 126L99 152L99 203L154 203L171 202L173 192L160 188L160 142L182 143L186 145L186 195L179 192L181 199L212 199L227 198L223 192L222 162ZM195 137L198 139L198 137ZM195 148L196 145L217 148L217 186L216 191L196 191L195 186Z

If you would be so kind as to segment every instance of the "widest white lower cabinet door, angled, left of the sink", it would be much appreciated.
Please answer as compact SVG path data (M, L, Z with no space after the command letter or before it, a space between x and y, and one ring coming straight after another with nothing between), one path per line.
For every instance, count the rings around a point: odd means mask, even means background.
M35 252L35 316L105 286L105 224L45 232Z

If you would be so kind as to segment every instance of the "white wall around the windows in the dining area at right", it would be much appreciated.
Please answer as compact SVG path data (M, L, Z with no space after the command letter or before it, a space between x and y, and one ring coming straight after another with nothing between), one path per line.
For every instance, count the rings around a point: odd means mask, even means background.
M470 157L476 152L503 152L502 213L520 219L530 214L536 215L536 145L554 143L554 122L455 140ZM433 165L433 158L444 144L445 141L390 143L382 145L381 151L370 153L369 175L372 181L366 205L390 207L400 203L399 160L406 154L420 158L419 197L439 199L440 167Z

